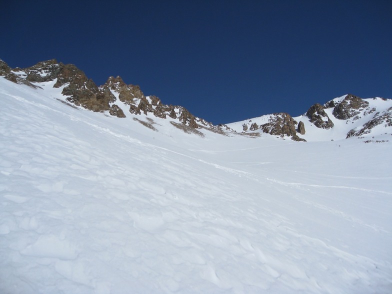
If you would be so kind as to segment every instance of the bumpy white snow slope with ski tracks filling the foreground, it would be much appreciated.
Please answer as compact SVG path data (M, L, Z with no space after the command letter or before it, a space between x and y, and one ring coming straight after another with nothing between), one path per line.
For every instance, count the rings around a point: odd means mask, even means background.
M0 293L392 292L392 136L154 131L58 90L0 78Z

